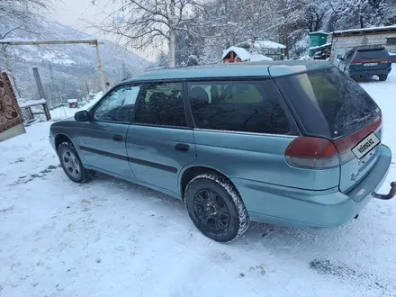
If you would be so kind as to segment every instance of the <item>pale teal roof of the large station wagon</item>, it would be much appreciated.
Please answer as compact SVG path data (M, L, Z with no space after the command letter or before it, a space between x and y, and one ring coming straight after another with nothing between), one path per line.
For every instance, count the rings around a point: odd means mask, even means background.
M276 77L307 72L320 68L334 67L323 60L283 60L175 67L149 71L121 84L184 79L231 78L231 77Z

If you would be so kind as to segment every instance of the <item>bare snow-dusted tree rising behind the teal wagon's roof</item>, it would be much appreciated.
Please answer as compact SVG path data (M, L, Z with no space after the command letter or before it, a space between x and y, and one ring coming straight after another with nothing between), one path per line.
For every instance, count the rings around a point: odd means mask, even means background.
M195 0L112 0L117 8L95 28L110 33L133 49L168 45L169 67L175 67L175 34L188 30L192 12L202 7Z

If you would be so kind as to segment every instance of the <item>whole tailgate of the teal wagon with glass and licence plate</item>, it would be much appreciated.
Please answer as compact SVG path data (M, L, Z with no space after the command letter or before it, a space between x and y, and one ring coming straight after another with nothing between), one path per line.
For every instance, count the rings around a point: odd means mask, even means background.
M330 139L336 146L339 190L344 193L352 190L378 158L382 139L378 105L336 67L277 81L293 104L303 134Z

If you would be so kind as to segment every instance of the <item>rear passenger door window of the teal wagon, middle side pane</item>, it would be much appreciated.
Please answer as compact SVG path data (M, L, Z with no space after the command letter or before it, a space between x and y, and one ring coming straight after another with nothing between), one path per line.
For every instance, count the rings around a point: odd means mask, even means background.
M133 122L149 125L186 126L181 83L142 85Z

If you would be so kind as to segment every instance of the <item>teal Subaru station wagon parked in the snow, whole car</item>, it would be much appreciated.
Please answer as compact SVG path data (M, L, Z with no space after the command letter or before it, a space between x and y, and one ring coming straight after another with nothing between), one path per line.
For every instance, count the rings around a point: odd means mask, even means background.
M94 172L175 196L205 236L250 220L337 227L356 217L391 164L374 100L326 61L172 68L116 85L50 127L66 175Z

